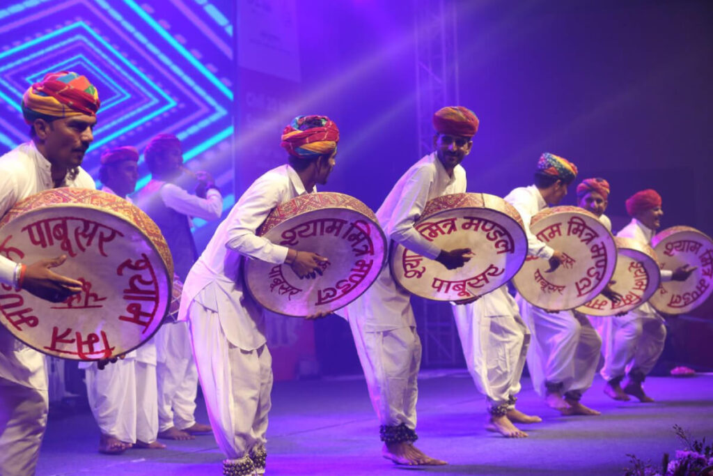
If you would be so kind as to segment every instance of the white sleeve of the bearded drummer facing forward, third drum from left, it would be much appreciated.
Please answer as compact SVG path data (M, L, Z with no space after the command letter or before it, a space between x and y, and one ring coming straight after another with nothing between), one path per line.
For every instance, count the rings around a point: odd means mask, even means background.
M429 198L429 186L432 181L430 175L427 168L420 167L416 168L411 177L406 180L401 198L391 213L389 229L392 240L401 243L414 253L435 259L441 253L441 248L426 240L414 228L414 223L423 213Z

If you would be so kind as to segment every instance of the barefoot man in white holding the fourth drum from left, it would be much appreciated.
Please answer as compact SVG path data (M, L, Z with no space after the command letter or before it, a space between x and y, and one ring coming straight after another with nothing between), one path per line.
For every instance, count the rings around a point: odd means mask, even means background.
M539 186L515 188L505 200L523 218L528 254L549 260L555 250L530 233L530 219L548 204L559 203L576 168L561 157L545 153L538 161L537 171L535 178ZM538 177L538 174L546 177ZM518 305L508 293L507 285L483 295L474 303L453 305L453 315L468 370L476 388L486 395L489 413L486 428L506 437L526 437L527 433L513 423L542 420L515 409L521 388L520 377L530 348L530 331L520 317Z

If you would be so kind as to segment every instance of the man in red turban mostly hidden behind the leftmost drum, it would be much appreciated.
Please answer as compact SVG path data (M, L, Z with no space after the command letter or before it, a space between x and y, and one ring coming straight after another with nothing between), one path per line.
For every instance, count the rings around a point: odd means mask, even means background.
M131 201L138 180L138 151L117 147L101 155L99 178L102 191ZM99 452L117 455L129 447L165 448L158 436L156 396L156 346L153 339L123 359L100 368L97 362L81 362L87 398L101 435Z

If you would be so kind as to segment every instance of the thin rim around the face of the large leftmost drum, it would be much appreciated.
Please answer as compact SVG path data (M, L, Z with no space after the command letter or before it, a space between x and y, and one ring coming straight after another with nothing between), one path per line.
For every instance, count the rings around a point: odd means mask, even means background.
M65 187L65 188L72 188L72 187ZM93 189L88 188L87 190L93 190ZM103 192L103 191L100 191L100 192L106 193L106 192ZM111 195L111 193L108 193L108 195ZM28 198L30 198L30 197L28 197ZM119 198L121 198L121 197L119 197ZM26 200L26 199L25 199L25 200ZM18 202L18 203L20 203L20 202ZM135 205L133 205L133 203L130 203L130 202L128 202L128 201L127 201L127 203L129 203L131 206L135 206ZM14 220L16 220L17 218L21 218L21 217L24 217L24 216L31 216L33 213L40 212L40 211L44 211L44 210L46 210L47 208L60 208L60 207L63 207L63 208L66 208L66 207L72 207L72 208L88 208L88 209L94 210L94 211L101 211L101 212L103 212L103 213L110 213L111 215L116 216L116 218L120 218L120 220L124 221L125 223L128 223L128 225L130 225L130 226L131 226L132 228L134 228L135 230L138 230L143 236L146 237L147 242L150 243L151 248L153 248L153 250L154 250L154 252L156 253L156 255L158 255L158 257L160 258L160 263L161 263L161 266L163 267L163 270L165 270L166 275L169 276L169 274L168 274L168 266L166 265L165 260L163 259L163 255L161 255L161 253L159 253L158 248L156 248L155 243L153 243L153 240L151 240L150 238L148 238L148 236L146 235L146 233L144 233L138 226L136 226L135 223L133 223L132 221L130 221L128 218L126 218L126 217L125 217L124 215L122 215L121 213L118 213L118 212L113 211L113 210L105 210L105 209L100 208L100 207L98 207L98 206L96 206L96 205L89 205L88 203L51 203L51 204L49 204L49 205L47 205L47 206L43 206L43 207L41 207L41 208L33 208L33 209L31 209L31 210L24 211L23 213L20 213L19 215L14 216L14 218L12 218L12 220L8 221L7 223L5 223L5 224L0 228L0 236L3 236L3 233L2 233L2 232L3 232L3 229L4 229L6 226L8 226L10 223L12 223ZM135 207L136 207L136 206L135 206ZM136 208L138 208L138 207L136 207ZM144 214L145 214L145 212L144 212L143 210L141 210L140 208L138 208L138 210L141 211L141 213L144 213ZM146 216L148 216L148 215L146 215ZM150 217L149 217L149 219L150 219ZM152 220L152 221L153 221L153 220ZM157 226L157 228L158 228L158 226ZM159 231L160 231L160 230L159 230ZM163 238L163 233L161 233L161 238ZM164 240L164 242L165 242L165 238L163 238L163 240ZM168 243L167 243L166 246L167 246L167 248L168 248ZM169 255L170 255L170 250L169 250ZM171 264L173 265L173 255L170 255L170 256L171 256L171 260L172 260L172 263L171 263ZM170 277L167 278L167 281L168 281L168 296L170 296L170 295L172 295L172 293L173 293L173 275L170 275ZM169 309L170 309L170 299L168 299L168 300L166 301L166 308L165 308L165 310L164 310L164 312L163 312L163 315L159 318L159 321L160 321L159 325L156 326L156 328L155 328L155 329L153 330L153 332L148 336L148 338L146 338L145 340L143 340L140 344L136 345L135 347L130 348L129 350L125 350L125 352L123 352L123 353L116 354L116 355L112 355L110 358L114 358L114 357L117 357L118 355L130 353L131 351L136 350L136 349L140 348L142 345L144 345L145 343L147 343L148 340L150 340L151 338L153 338L153 336L155 335L155 333L157 333L158 330L160 329L160 327L163 325L163 319L166 317L166 314L168 313L168 310L169 310ZM158 317L158 316L157 316L157 317ZM4 315L3 313L0 313L0 319L1 319L1 320L4 320L4 319L5 319L5 315ZM26 343L25 340L19 338L18 335L16 335L7 325L5 325L4 322L0 322L0 325L2 325L9 333L11 333L11 334L14 336L14 338L20 340L21 343L23 343L24 345L27 345L29 348L32 348L32 349L36 350L36 351L39 352L39 353L42 353L43 355L50 355L51 357L61 358L61 359L64 359L64 360L74 360L74 361L76 361L76 362L96 362L96 361L98 361L98 360L106 360L106 359L76 359L76 358L69 358L69 357L65 357L65 356L61 356L61 355L55 355L55 354L52 354L52 353L47 353L45 350L40 350L40 349L34 347L34 345L31 345L31 344L29 344L29 343Z

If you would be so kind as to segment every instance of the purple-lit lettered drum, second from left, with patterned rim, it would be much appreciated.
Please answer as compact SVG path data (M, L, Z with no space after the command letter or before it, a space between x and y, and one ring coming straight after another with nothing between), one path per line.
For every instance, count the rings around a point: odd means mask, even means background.
M386 262L386 237L369 207L344 193L304 193L280 204L257 230L272 243L329 260L322 275L300 279L286 263L245 259L255 300L293 317L332 313L366 291Z

